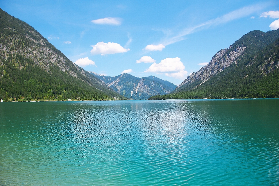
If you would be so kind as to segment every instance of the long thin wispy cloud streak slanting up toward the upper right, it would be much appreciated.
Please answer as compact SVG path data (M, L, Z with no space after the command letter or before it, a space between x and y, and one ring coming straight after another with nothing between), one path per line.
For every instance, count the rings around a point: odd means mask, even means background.
M192 26L189 28L185 28L182 31L180 31L180 33L178 33L177 35L170 37L170 38L165 38L161 43L164 46L167 46L169 44L181 41L181 40L185 40L185 35L203 30L205 28L209 28L210 26L216 26L219 24L225 24L227 22L230 22L232 20L235 19L240 19L242 17L246 17L248 15L251 15L252 13L261 10L262 8L264 8L264 6L260 6L260 5L254 5L254 6L246 6L243 8L240 8L238 10L234 10L232 12L229 12L228 14L225 14L221 17L217 17L215 19L211 19L209 21L206 21L204 23L201 24L197 24L196 26Z

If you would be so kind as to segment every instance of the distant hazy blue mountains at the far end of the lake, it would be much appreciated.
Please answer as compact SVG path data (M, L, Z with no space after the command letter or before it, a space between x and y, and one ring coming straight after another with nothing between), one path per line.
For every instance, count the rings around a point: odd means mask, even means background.
M95 72L90 73L128 99L148 99L150 96L168 94L176 88L176 85L155 76L138 78L130 74L121 74L110 77Z

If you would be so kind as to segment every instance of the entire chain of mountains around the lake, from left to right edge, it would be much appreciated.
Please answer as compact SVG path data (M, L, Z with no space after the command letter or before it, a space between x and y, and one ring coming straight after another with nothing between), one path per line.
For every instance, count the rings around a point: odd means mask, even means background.
M38 31L0 9L4 101L279 97L279 30L251 31L176 86L155 76L87 72Z

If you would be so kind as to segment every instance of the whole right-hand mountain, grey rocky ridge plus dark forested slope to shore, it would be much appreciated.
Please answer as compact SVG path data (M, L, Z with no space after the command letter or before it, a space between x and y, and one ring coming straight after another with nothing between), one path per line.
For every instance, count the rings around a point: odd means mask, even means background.
M251 31L218 51L171 94L150 99L279 97L278 38L279 30Z

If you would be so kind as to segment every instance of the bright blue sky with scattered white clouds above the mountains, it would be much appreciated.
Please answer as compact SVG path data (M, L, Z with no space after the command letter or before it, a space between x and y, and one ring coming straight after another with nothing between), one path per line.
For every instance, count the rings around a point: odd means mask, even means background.
M87 71L176 85L242 35L279 25L279 1L0 0L0 8Z

